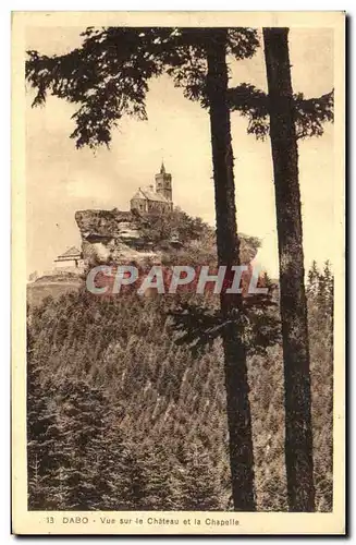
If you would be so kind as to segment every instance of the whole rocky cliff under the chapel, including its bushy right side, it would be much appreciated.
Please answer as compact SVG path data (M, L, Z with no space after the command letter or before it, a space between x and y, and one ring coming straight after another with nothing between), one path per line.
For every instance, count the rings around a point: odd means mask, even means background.
M217 262L213 228L177 208L158 216L118 208L79 210L75 220L88 266L134 262L209 265ZM241 235L242 263L250 263L258 247L257 239Z

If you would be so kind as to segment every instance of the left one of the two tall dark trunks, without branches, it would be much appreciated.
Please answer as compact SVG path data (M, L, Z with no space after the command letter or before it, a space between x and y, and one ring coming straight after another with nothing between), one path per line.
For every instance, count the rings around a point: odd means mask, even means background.
M210 106L218 263L219 265L226 265L229 270L231 266L240 264L240 255L230 110L226 102L228 65L225 29L211 31L207 60L207 93ZM223 292L220 302L223 316L228 320L233 308L236 307L236 300ZM234 325L228 326L224 330L223 350L234 510L254 511L256 509L254 452L246 352L241 342L237 328Z

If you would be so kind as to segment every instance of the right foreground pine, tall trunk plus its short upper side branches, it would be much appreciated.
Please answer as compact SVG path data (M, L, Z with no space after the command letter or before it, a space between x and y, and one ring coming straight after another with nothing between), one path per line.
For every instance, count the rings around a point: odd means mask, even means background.
M232 110L248 118L248 133L257 138L267 134L271 137L280 253L290 506L292 510L312 510L310 377L297 140L320 136L323 123L333 121L333 92L311 99L305 99L300 93L293 94L287 33L287 28L263 28L268 95L242 84L229 90L229 100Z

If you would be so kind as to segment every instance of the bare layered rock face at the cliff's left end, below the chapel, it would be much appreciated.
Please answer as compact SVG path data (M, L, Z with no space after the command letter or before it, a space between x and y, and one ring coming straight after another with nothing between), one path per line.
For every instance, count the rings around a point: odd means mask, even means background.
M147 219L133 211L78 210L75 220L82 235L85 262L93 266L107 263L159 261L143 229Z

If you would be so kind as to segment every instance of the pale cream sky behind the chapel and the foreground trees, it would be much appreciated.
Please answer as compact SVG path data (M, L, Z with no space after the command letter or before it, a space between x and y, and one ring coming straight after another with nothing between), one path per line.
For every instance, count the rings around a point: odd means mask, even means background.
M76 27L29 28L27 48L53 55L81 44ZM294 92L306 97L333 87L332 29L290 32ZM251 83L266 90L263 50L245 61L231 61L230 85ZM67 246L79 245L74 220L78 209L128 209L139 185L154 182L162 158L172 173L173 202L192 216L214 225L213 182L208 112L184 98L168 76L154 80L147 95L148 121L124 119L112 135L111 148L75 148L69 135L75 108L50 97L45 107L30 108L27 89L26 190L27 274L52 267ZM278 275L274 189L270 141L246 133L247 121L232 113L235 156L237 226L259 237L258 263ZM320 138L299 142L305 265L331 256L333 239L333 125Z

